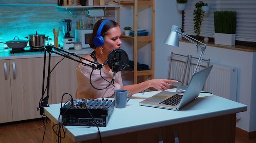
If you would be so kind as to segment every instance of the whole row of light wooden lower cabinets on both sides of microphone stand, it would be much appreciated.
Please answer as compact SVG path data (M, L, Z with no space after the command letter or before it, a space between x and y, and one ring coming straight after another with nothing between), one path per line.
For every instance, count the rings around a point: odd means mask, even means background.
M83 57L85 54L80 54ZM63 56L51 56L51 69ZM75 57L73 57L75 58ZM0 123L40 118L36 110L40 106L43 85L44 58L20 58L0 60ZM78 63L64 58L50 74L49 104L61 103L64 93L75 95L77 88L76 67ZM46 76L48 57L46 58ZM47 94L45 93L44 98ZM65 95L63 102L70 99Z

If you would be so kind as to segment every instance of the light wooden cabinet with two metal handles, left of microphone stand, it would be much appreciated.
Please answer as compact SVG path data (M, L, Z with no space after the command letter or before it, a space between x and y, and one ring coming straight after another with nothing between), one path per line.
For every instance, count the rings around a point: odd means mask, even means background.
M43 58L0 60L0 123L39 118Z

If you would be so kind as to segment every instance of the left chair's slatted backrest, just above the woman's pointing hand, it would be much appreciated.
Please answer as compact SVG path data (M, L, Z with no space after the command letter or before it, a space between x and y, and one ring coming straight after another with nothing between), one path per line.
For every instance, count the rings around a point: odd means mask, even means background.
M173 86L184 85L186 68L189 63L189 55L174 54L171 52L168 79L177 80L178 83L172 83Z

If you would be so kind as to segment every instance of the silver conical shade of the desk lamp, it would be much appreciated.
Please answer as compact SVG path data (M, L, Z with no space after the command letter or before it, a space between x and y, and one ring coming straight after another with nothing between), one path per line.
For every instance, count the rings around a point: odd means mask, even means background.
M169 35L164 40L165 44L179 47L179 35L176 32L178 29L179 29L178 26L175 26L175 25L172 26L171 32L169 33Z

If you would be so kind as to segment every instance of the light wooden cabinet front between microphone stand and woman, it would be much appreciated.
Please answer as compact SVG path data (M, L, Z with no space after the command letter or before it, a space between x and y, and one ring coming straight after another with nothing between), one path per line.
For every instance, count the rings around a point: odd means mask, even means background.
M78 56L85 56L81 54ZM51 57L51 69L63 59L63 56L52 56ZM74 56L72 58L78 59ZM64 58L51 73L51 95L52 104L61 103L61 98L64 93L69 93L74 98L77 88L76 80L76 67L78 62L73 61L69 58ZM71 97L70 95L64 95L63 102L67 102Z

